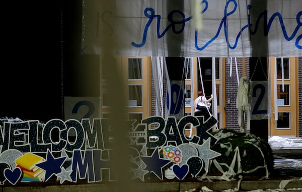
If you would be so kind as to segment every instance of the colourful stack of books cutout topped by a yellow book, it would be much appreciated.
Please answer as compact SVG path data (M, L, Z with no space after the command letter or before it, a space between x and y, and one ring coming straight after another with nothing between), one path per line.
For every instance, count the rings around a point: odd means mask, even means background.
M36 164L45 161L43 157L32 153L26 153L17 158L15 162L17 167L23 171L21 182L43 181L45 171L36 166Z

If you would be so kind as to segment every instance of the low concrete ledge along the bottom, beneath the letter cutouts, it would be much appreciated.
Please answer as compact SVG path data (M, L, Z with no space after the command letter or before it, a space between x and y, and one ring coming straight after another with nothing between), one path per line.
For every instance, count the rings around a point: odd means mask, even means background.
M282 182L282 183L281 183ZM278 189L280 183L283 189L301 188L302 180L262 180L262 181L196 181L196 182L110 182L107 184L79 184L79 185L52 185L52 186L7 186L2 187L3 192L15 191L39 191L39 192L68 192L68 191L144 191L144 192L179 192L190 189L201 189L207 186L214 191L226 189L256 190L256 189Z

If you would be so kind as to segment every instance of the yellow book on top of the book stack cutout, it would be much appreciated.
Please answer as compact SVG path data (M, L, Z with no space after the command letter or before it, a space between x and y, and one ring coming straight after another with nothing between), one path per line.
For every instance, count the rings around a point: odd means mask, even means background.
M23 156L17 158L15 160L15 162L18 165L21 165L22 167L28 169L28 170L32 170L33 168L35 168L35 165L37 163L41 163L43 162L45 159L43 157L40 157L38 155L35 155L33 153L26 153Z

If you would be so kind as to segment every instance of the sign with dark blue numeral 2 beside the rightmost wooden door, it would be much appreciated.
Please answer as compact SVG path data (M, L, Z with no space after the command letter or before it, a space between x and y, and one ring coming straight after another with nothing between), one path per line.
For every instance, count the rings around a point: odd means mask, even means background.
M251 85L251 119L268 119L268 81L250 81Z

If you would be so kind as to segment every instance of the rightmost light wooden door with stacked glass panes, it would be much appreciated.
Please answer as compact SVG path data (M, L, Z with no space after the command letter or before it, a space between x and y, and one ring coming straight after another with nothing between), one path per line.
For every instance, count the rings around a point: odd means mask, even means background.
M268 124L269 136L296 136L295 57L271 57L270 63L271 118ZM276 79L274 74L277 76ZM274 85L275 80L276 86ZM277 111L275 107L278 107Z

